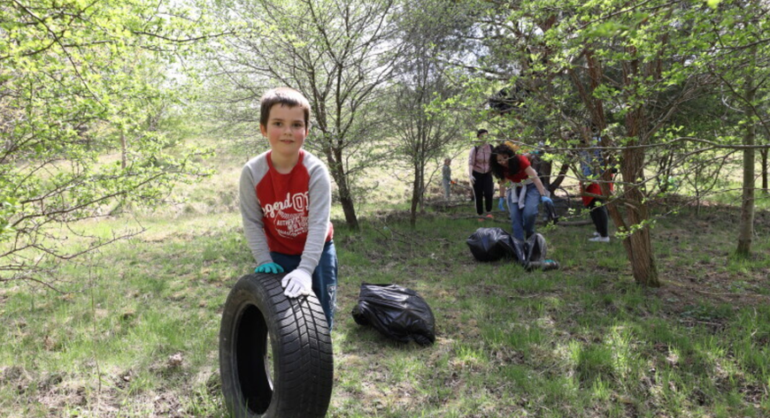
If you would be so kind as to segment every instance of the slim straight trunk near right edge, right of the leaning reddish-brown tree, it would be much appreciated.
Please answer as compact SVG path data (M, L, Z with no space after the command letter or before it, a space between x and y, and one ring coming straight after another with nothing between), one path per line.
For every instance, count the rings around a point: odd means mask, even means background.
M754 57L757 47L752 48ZM750 118L746 124L746 134L743 136L743 145L749 147L743 150L743 199L741 201L741 224L738 227L738 247L735 255L746 258L751 255L751 239L754 235L754 137L757 124L753 121L751 103L754 101L756 87L753 76L747 75L745 81L745 114Z

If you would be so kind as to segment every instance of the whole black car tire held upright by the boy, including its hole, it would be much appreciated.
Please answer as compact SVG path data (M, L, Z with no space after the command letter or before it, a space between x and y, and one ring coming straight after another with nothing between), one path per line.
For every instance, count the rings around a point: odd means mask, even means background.
M219 375L231 416L321 418L327 413L334 360L326 316L315 295L287 298L283 276L241 277L227 296L219 328Z

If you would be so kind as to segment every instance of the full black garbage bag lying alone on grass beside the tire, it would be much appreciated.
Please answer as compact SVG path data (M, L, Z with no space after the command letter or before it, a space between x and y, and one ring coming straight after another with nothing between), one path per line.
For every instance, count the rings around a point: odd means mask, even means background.
M372 325L388 338L420 346L435 342L433 311L412 289L362 283L352 314L358 325Z

